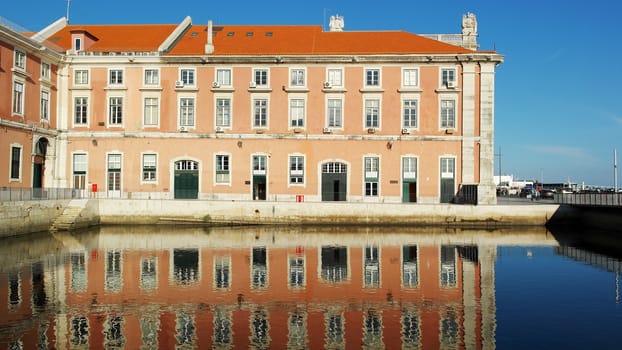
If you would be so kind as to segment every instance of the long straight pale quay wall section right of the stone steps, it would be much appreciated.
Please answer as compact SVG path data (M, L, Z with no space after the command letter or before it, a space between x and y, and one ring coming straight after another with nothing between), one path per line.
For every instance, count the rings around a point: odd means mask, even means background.
M544 226L557 205L378 204L350 202L263 202L102 200L102 225L110 224L314 224Z

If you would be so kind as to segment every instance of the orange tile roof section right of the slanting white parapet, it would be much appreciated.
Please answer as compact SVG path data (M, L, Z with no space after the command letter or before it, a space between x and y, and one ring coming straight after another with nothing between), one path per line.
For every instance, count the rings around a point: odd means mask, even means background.
M213 31L215 33L214 55L373 55L472 52L459 46L404 31L325 32L322 31L321 26L217 25L213 27ZM169 54L201 54L206 42L207 26L193 26Z

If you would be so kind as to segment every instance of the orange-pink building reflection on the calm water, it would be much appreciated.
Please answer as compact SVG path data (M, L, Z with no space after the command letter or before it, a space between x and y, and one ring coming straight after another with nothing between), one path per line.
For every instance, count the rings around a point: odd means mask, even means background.
M429 232L111 227L15 239L0 248L2 338L16 348L493 348L498 236Z

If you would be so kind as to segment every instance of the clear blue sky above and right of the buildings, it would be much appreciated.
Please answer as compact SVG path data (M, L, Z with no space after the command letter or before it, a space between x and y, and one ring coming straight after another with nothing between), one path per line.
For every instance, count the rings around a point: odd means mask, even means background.
M7 2L0 16L38 31L65 16L66 0ZM72 0L72 24L314 24L340 14L345 30L459 33L478 20L482 50L497 67L495 153L501 173L544 182L612 186L622 160L622 1L593 0ZM499 152L500 150L500 152ZM499 173L499 157L495 159ZM622 163L622 162L621 162Z

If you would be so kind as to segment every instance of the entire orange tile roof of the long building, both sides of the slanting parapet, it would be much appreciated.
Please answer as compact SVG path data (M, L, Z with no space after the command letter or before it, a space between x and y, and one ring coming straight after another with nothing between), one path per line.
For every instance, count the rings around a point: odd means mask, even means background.
M71 31L97 38L85 51L157 51L177 25L70 25L49 39L71 48ZM325 32L321 26L213 26L213 55L457 54L471 50L405 31ZM192 25L167 53L204 55L207 26Z

